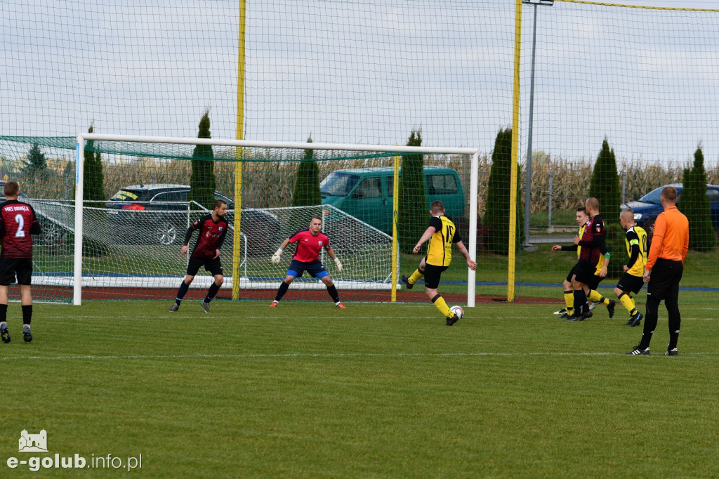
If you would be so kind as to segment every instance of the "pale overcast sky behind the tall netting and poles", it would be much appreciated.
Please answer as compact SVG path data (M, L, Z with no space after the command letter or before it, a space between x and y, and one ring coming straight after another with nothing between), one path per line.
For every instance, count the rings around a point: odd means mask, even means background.
M612 1L712 8L715 1ZM234 138L239 0L3 0L0 134ZM511 124L512 0L247 2L245 137L489 152ZM521 152L532 16L523 10ZM533 150L719 158L719 12L537 7Z

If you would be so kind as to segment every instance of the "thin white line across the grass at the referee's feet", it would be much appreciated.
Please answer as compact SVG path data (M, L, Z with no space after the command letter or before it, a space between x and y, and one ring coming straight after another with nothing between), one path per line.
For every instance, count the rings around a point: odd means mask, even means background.
M288 352L283 354L245 355L78 355L78 356L4 356L0 360L156 360L156 359L283 359L283 358L332 358L332 357L531 357L531 356L617 356L623 352ZM682 356L716 356L716 352L689 352ZM661 356L664 356L661 354Z

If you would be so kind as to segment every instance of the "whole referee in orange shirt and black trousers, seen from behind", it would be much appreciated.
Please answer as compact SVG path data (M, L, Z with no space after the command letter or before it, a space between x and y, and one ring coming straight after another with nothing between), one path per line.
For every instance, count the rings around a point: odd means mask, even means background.
M664 355L676 356L679 326L679 281L684 271L684 258L689 250L689 221L677 209L677 188L666 186L661 190L661 206L664 207L654 222L654 237L649 248L649 258L644 266L646 286L646 315L641 341L628 355L649 355L649 342L656 327L657 309L664 300L669 315L669 345Z

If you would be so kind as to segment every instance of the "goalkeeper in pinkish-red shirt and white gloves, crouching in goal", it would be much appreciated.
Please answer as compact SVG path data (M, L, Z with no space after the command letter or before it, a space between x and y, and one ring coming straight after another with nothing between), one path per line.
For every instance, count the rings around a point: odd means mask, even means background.
M324 249L327 250L329 257L334 260L334 265L336 265L337 271L342 273L342 263L339 262L339 258L336 257L334 251L330 247L329 237L321 232L321 229L321 217L312 216L310 227L308 229L301 229L288 239L285 239L282 246L280 246L277 252L272 255L272 264L278 265L280 264L280 257L282 256L282 252L285 248L288 247L290 243L297 243L295 252L292 255L292 262L287 270L287 277L282 283L280 283L280 288L277 290L275 301L270 304L270 308L274 308L278 305L280 299L285 296L288 288L290 288L290 283L292 283L295 278L300 278L302 273L306 271L307 273L310 273L313 278L319 278L319 280L327 286L327 293L331 296L335 306L339 309L347 309L347 307L339 301L337 288L334 287L334 283L332 283L329 273L327 273L327 270L324 269L322 262L319 260L319 252L324 247Z

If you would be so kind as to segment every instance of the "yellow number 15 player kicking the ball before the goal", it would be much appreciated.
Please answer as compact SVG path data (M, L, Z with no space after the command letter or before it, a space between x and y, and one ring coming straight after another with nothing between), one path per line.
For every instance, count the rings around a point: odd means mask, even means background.
M452 326L452 324L459 321L459 316L449 309L444 298L437 292L442 271L449 268L449 263L452 263L452 245L457 245L470 269L476 270L477 263L470 258L470 252L464 247L462 237L457 232L457 227L449 218L444 216L444 205L441 201L432 201L429 214L432 216L429 220L429 227L413 249L413 252L418 253L422 245L429 241L427 255L420 261L419 268L409 278L403 275L402 280L407 288L411 289L424 276L424 291L434 306L439 309L439 312L446 317L447 326Z

